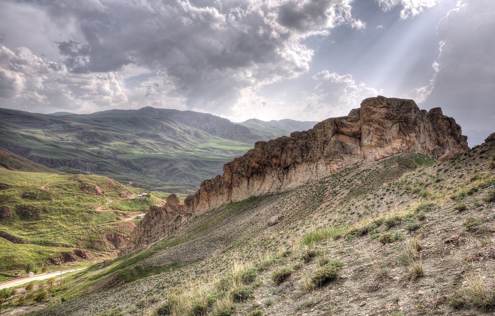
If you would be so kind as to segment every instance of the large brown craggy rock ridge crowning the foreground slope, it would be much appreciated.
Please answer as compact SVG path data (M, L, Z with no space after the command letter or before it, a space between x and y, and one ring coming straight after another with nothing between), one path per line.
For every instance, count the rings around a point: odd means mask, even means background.
M347 116L330 118L305 132L268 142L223 167L223 176L202 181L184 201L186 212L212 209L249 196L276 193L337 173L356 163L415 152L439 158L468 149L467 137L441 108L420 110L413 100L371 97Z

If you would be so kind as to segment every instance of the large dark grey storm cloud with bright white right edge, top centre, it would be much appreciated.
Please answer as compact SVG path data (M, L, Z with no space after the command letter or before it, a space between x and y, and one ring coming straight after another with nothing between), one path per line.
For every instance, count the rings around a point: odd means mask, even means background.
M145 66L163 73L190 107L217 110L242 90L307 72L312 50L300 44L305 37L338 24L363 25L351 17L349 0L36 5L53 19L75 21L79 38L57 42L70 72Z

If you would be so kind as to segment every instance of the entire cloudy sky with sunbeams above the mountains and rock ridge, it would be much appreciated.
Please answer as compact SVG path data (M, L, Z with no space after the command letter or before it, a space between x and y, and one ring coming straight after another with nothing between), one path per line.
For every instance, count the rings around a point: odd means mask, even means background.
M0 107L240 122L378 94L495 130L493 0L1 0Z

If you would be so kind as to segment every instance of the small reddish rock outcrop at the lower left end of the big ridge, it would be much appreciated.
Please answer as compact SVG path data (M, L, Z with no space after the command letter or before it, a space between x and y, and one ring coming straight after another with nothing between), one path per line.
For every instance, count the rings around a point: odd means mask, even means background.
M184 224L186 216L177 195L170 194L166 201L164 206L149 207L149 212L132 231L129 243L119 251L119 257L166 236Z

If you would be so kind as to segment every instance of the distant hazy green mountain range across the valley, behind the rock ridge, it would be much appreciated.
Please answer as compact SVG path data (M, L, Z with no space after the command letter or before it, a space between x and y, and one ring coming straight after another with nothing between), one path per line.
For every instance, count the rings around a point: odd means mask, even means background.
M91 171L136 186L194 193L252 144L317 122L225 118L144 107L93 114L0 109L0 147L60 172Z

